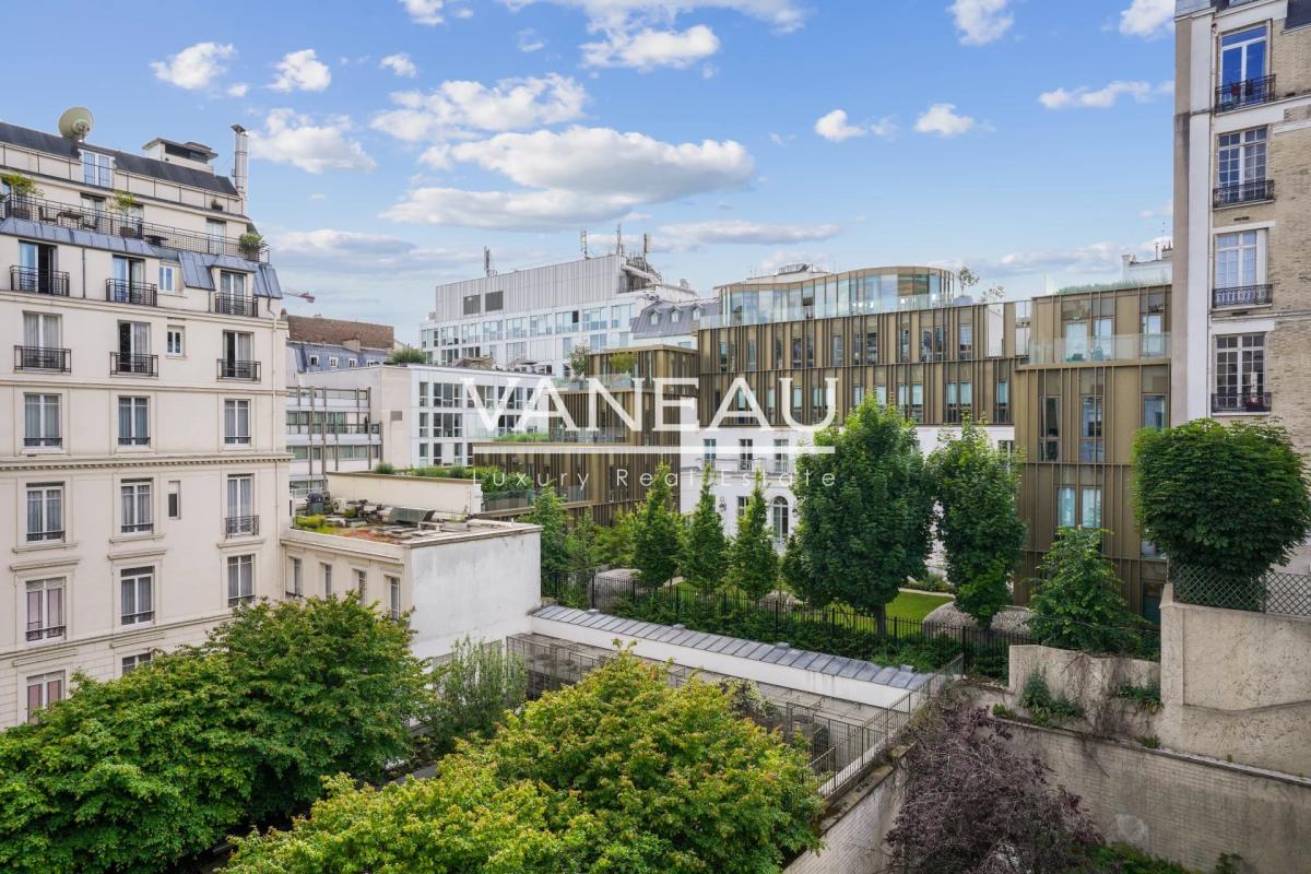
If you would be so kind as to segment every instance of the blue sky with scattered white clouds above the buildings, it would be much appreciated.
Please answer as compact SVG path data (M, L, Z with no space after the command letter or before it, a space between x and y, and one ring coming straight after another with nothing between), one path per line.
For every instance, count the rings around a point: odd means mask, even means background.
M22 4L4 121L194 139L298 313L416 339L437 282L649 232L707 292L791 261L969 263L1028 296L1168 229L1172 0ZM138 12L140 10L140 12Z

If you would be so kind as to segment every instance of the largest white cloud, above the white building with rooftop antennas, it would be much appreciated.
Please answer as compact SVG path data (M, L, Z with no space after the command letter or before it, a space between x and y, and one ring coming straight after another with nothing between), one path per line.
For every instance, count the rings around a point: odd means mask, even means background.
M522 187L420 187L383 218L477 228L568 227L623 218L648 203L741 189L755 169L750 153L732 140L673 144L593 127L499 134L454 145L439 160L476 164Z

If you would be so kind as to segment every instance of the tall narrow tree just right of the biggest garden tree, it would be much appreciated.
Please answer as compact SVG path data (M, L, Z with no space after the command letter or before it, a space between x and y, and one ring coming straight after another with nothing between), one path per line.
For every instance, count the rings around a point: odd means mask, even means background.
M928 457L928 474L941 508L937 536L947 550L956 605L986 629L1011 603L1008 582L1024 545L1016 510L1019 470L966 417L960 435Z

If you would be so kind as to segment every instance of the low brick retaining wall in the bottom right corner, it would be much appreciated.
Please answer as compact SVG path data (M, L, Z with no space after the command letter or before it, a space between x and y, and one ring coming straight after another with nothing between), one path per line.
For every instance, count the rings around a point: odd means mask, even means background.
M1197 870L1236 853L1251 874L1307 870L1311 781L1133 743L1009 723L1013 744L1083 799L1108 841Z

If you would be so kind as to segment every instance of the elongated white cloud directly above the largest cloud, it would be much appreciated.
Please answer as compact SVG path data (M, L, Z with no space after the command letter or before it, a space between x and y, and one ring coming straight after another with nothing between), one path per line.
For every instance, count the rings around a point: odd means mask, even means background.
M435 90L397 92L399 109L376 115L371 123L408 143L467 136L464 131L511 131L557 124L582 117L587 92L573 79L551 73L530 79L502 79L493 88L475 81L446 81Z

